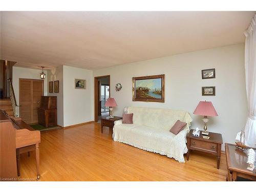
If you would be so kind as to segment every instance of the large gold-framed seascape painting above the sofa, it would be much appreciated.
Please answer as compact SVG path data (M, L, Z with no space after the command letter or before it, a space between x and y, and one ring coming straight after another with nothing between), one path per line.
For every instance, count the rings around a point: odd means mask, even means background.
M133 77L133 101L164 102L164 75Z

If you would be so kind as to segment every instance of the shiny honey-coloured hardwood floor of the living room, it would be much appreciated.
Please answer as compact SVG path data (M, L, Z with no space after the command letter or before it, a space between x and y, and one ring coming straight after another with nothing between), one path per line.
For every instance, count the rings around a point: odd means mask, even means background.
M191 152L179 163L115 142L99 123L41 132L40 181L225 181L226 159ZM185 158L186 159L186 158ZM20 156L20 178L36 178L35 154Z

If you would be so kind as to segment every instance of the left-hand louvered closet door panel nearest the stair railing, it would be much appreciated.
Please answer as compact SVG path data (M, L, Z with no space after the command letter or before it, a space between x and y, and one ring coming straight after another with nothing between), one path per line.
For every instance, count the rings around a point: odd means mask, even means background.
M29 79L19 79L19 116L26 123L32 123L32 81Z

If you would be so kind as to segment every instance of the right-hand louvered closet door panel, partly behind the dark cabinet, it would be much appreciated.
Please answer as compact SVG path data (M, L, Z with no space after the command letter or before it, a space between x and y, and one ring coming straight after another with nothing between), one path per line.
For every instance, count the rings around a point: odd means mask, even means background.
M32 123L38 122L38 108L41 103L41 96L43 95L43 81L33 80L32 81L32 110L33 110L33 120Z

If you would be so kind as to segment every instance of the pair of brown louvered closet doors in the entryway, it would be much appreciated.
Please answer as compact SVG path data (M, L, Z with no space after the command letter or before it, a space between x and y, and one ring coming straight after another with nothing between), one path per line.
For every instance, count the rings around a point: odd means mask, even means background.
M44 95L44 80L19 79L19 116L28 124L38 123L37 109Z

